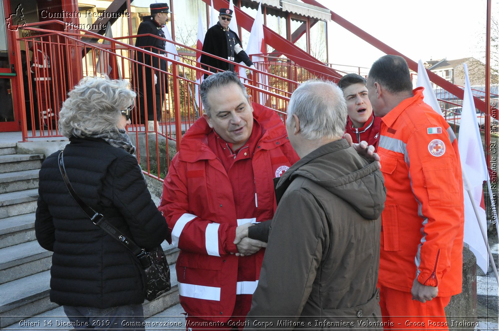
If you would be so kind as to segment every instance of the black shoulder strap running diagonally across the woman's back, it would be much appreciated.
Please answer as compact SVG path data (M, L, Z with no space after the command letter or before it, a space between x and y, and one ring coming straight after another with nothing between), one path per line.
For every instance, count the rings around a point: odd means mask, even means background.
M57 163L59 164L59 170L62 174L62 178L64 179L64 183L66 184L66 187L69 190L69 194L71 194L74 201L76 201L76 203L85 212L85 214L87 214L87 216L95 225L98 225L102 230L106 231L111 237L115 238L120 243L122 243L126 248L128 248L133 253L133 255L137 257L142 268L144 269L149 268L149 266L151 265L151 260L147 256L146 251L137 246L135 242L127 238L120 230L115 228L112 224L108 223L102 214L96 212L92 207L83 202L83 200L78 196L78 194L76 194L75 190L73 189L73 186L71 186L71 183L69 182L69 178L67 177L66 168L64 167L64 158L62 152L63 151L61 151L61 153L59 153L59 156L57 157Z

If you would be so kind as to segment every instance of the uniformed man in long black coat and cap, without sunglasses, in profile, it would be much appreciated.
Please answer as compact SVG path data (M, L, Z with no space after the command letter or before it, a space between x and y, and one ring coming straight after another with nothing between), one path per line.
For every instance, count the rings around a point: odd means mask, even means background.
M150 33L165 38L162 27L168 22L170 7L167 3L151 3L149 8L151 10L151 16L145 16L143 18L143 22L140 23L139 29L137 30L137 35ZM137 86L139 92L139 102L137 103L137 106L140 112L140 123L145 124L147 120L148 131L161 132L161 126L158 122L161 121L161 109L163 101L165 100L165 93L168 93L168 77L163 73L168 69L165 41L152 36L142 36L137 37L135 46L165 56L164 58L158 58L137 52L137 61L162 70L158 71L145 67L143 72L143 67L140 65L137 66L136 70L139 84ZM147 119L145 116L146 107ZM156 126L154 123L155 119L157 121Z

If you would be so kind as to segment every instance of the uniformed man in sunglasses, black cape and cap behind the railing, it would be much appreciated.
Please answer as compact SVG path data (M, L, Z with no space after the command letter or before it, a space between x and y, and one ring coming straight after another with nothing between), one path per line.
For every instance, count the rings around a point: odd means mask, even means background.
M218 23L210 27L206 32L203 51L237 63L244 62L247 66L254 68L250 57L243 50L243 44L238 34L229 28L232 13L231 9L220 8ZM234 71L234 64L224 62L209 55L202 54L200 62L205 64L203 69L212 72Z

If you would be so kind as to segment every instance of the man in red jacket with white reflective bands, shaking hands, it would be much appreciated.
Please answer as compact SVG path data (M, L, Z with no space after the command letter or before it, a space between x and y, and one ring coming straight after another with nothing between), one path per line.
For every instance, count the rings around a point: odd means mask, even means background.
M201 84L205 113L182 138L159 206L180 248L177 279L187 329L243 329L265 243L239 227L270 220L273 178L298 161L286 129L231 71ZM239 227L239 228L238 228Z

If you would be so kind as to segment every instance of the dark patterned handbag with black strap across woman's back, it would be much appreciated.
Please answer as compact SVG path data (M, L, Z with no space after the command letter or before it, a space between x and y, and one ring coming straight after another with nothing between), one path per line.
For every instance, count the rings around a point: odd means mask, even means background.
M78 203L80 208L85 212L85 214L87 214L95 225L98 225L111 237L122 243L139 260L140 266L144 270L145 274L146 299L152 301L163 293L170 291L172 288L170 283L170 267L168 266L165 252L163 251L163 248L161 248L161 245L151 249L149 252L146 252L145 249L140 248L135 242L127 238L123 233L110 224L102 214L99 214L92 209L92 207L88 206L85 202L83 202L78 194L76 194L75 190L71 186L71 183L69 182L69 178L67 177L62 152L59 153L57 161L64 183L66 184L66 187L74 201Z

